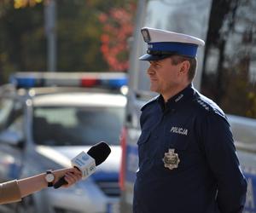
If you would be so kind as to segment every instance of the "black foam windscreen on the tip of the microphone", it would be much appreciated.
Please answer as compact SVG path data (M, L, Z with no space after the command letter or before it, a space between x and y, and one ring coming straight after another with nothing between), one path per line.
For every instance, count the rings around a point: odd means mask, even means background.
M108 144L104 141L101 141L94 145L93 147L90 147L87 154L90 155L91 158L95 159L96 165L102 164L107 158L108 155L111 153L111 149L108 146Z

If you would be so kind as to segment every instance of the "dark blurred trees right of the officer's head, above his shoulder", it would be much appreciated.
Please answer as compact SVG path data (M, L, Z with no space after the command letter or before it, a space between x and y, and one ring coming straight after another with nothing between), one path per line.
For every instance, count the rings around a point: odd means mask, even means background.
M202 92L225 112L251 118L256 118L255 9L254 0L212 1L201 81Z

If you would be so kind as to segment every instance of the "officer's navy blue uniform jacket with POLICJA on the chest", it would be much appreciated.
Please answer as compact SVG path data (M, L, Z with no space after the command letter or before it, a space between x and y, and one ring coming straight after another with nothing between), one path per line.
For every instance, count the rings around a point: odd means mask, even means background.
M224 112L191 85L142 111L133 212L242 212L247 181ZM172 170L163 161L169 149L179 159Z

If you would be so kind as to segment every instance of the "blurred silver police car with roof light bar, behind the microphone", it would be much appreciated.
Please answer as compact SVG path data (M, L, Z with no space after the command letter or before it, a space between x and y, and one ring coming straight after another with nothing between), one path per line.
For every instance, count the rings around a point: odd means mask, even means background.
M119 212L119 133L125 116L122 73L20 72L0 89L0 181L70 167L106 141L112 152L85 181L48 188L12 205L16 212Z

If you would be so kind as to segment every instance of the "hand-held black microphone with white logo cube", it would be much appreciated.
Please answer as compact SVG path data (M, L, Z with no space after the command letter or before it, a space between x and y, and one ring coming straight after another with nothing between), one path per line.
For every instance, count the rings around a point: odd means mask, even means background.
M101 141L90 147L87 153L79 153L78 156L71 160L71 163L73 167L82 172L82 179L84 180L96 171L96 166L102 164L110 153L111 149L108 144ZM67 181L62 176L59 181L55 182L54 188L59 188L64 184L67 184Z

